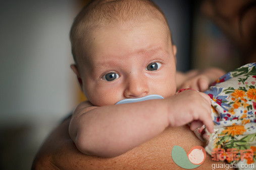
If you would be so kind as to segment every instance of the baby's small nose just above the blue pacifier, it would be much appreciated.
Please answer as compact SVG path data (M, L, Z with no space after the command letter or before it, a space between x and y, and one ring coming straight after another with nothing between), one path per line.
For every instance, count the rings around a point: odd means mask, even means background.
M148 95L149 87L146 78L130 75L126 81L124 96L126 98L141 98Z

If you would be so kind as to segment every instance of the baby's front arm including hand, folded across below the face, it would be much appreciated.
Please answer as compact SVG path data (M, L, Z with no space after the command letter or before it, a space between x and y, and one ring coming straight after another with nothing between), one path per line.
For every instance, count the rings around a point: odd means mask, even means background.
M69 132L81 152L113 157L159 135L168 126L200 120L213 131L210 114L210 98L191 90L139 103L94 107L83 102L73 114Z

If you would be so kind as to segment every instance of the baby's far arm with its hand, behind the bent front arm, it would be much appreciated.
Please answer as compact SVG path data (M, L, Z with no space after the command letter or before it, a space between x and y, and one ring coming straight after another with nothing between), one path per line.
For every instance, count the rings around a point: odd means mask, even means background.
M225 71L220 68L208 68L202 71L191 70L186 73L177 72L177 89L191 88L200 92L208 90L209 86Z

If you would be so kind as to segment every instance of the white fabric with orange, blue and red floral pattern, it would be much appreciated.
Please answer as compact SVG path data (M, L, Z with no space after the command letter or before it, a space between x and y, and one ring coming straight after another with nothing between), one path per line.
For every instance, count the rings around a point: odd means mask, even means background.
M256 63L249 63L220 77L206 92L211 98L214 133L203 125L194 130L195 134L207 142L206 151L210 155L216 148L225 152L237 149L239 160L233 163L254 163L256 167ZM253 159L241 161L240 150L252 149Z

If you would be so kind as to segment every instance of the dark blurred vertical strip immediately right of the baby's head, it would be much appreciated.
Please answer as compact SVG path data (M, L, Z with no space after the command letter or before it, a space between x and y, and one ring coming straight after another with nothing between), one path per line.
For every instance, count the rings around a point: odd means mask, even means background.
M192 5L189 0L153 0L166 15L172 33L173 43L177 46L177 70L190 69L190 43L192 28Z

